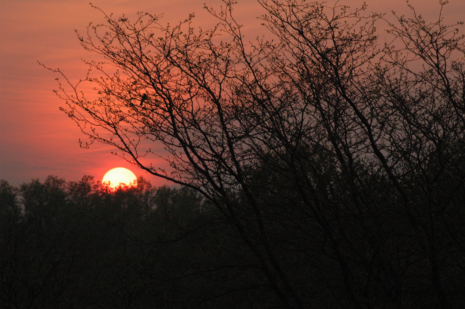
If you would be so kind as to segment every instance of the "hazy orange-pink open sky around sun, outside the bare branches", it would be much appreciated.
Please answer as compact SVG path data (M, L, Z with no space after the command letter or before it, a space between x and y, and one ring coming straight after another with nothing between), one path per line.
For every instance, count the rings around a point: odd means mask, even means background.
M106 145L80 149L83 138L76 124L59 107L64 102L52 90L57 75L38 64L60 68L71 79L83 78L86 66L80 59L97 59L79 45L74 29L84 32L89 22L100 23L102 14L89 0L1 0L0 2L0 179L19 185L31 178L44 180L53 174L66 180L92 175L101 180L106 171L126 167L152 184L165 184L115 157ZM203 9L206 0L94 0L107 13L131 18L138 11L164 13L161 22L176 23L195 13L196 26L208 27L215 21ZM362 1L341 4L358 7ZM220 1L208 1L219 7ZM366 0L369 11L408 13L405 1ZM410 3L426 19L437 17L437 0ZM254 0L238 0L234 11L244 24L246 39L265 33L261 13ZM451 0L443 14L447 20L465 20L465 1ZM388 15L388 18L390 16ZM156 147L154 147L156 148ZM165 166L163 162L154 165Z

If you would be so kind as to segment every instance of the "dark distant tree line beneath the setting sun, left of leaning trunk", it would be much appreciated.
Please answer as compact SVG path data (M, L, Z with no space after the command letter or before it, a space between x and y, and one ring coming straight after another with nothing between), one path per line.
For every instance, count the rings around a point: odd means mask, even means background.
M272 306L257 261L192 189L0 184L0 308Z

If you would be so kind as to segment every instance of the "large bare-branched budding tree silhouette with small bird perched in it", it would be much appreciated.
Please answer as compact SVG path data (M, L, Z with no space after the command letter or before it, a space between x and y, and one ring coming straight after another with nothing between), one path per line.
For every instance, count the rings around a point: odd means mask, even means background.
M429 22L413 7L389 17L365 5L259 4L268 33L253 42L229 0L206 7L219 22L209 30L193 16L164 26L105 14L78 34L106 60L87 62L77 84L56 70L62 110L90 144L184 186L171 201L202 197L144 206L143 220L131 217L142 211L130 211L135 201L92 206L110 217L91 225L118 235L105 252L131 266L102 277L120 264L99 262L89 278L120 284L106 299L156 308L464 308L462 23ZM160 157L170 170L153 165ZM116 196L88 200L125 201ZM182 211L170 217L172 207ZM144 228L129 232L137 222Z

